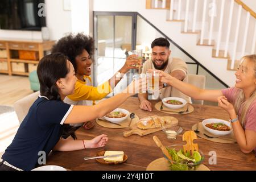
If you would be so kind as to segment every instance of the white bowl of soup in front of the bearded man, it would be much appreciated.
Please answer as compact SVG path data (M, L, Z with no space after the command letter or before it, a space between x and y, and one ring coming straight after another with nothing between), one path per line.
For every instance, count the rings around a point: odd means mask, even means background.
M180 109L187 104L187 101L180 97L166 97L162 102L169 109Z

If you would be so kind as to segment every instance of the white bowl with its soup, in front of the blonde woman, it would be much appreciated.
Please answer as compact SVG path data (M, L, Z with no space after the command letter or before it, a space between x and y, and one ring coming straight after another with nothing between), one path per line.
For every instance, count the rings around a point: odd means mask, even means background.
M205 119L202 122L202 125L205 130L207 130L209 133L213 135L221 136L232 133L232 127L230 125L230 122L222 119Z

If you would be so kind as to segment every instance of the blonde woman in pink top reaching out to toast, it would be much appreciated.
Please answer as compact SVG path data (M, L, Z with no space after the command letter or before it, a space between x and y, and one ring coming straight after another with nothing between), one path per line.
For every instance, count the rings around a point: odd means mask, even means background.
M229 114L237 143L243 153L256 152L256 55L245 56L236 75L236 86L224 90L203 90L163 71L160 81L174 86L195 100L218 102ZM255 153L256 155L256 153Z

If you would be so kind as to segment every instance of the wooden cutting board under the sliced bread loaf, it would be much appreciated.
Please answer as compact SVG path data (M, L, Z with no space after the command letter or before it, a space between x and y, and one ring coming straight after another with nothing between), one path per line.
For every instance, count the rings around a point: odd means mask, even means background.
M168 125L164 125L164 127L166 129L168 129L169 127L177 126L179 124L179 121L176 118L174 118L174 117L170 117L170 118L172 119L172 123L170 123ZM154 133L156 131L161 131L161 130L162 130L162 127L158 127L155 129L142 130L142 129L139 129L137 127L137 125L133 125L133 126L131 126L131 130L123 132L123 137L130 137L131 135L134 135L134 134L137 134L139 136L144 136L144 135L148 135L148 134Z

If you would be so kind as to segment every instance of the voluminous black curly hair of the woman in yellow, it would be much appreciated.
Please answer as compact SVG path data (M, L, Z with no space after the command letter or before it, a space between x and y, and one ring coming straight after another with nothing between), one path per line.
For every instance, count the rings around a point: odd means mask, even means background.
M75 72L77 72L76 56L81 55L84 49L89 53L91 57L94 54L94 39L90 36L86 36L82 33L77 35L69 34L61 38L53 47L51 52L63 53L71 61Z

